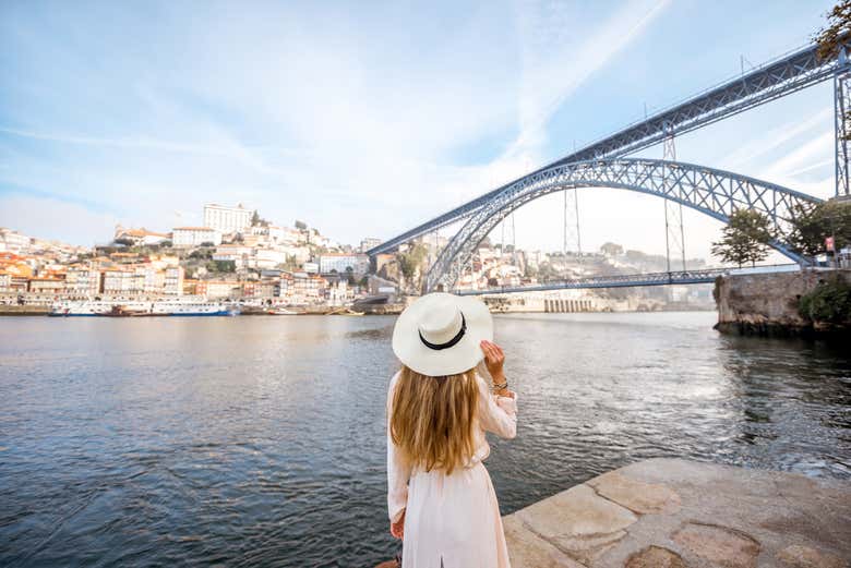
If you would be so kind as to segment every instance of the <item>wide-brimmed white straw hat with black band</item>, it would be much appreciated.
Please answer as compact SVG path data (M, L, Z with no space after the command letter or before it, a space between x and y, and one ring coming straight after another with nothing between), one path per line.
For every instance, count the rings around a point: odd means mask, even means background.
M482 339L493 340L493 318L484 302L432 292L399 314L393 328L393 352L417 373L454 375L484 358Z

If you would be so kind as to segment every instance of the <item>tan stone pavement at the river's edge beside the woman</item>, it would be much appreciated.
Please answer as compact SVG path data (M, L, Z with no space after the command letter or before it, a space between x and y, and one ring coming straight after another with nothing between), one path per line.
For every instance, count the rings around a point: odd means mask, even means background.
M503 518L513 568L851 567L851 482L680 459Z

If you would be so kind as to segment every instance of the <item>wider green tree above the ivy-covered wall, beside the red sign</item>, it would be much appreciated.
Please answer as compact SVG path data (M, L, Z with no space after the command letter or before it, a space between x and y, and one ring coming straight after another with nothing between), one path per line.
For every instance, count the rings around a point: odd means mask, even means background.
M836 201L792 208L792 250L807 256L825 252L825 239L834 237L835 251L851 245L851 204Z

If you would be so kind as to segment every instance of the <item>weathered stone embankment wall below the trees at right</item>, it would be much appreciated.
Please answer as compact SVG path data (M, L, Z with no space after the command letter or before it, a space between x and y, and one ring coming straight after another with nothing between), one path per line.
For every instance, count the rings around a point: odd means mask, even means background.
M716 329L756 335L812 333L813 324L798 313L798 302L827 278L839 278L851 285L851 270L807 269L719 277L714 292L718 306Z

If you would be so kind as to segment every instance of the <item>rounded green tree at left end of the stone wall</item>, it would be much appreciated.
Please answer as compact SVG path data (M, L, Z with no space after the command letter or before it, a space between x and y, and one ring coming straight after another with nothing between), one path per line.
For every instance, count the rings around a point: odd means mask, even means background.
M712 254L724 263L756 265L768 256L768 243L774 239L771 220L759 212L738 209L730 215L723 237L712 243Z

